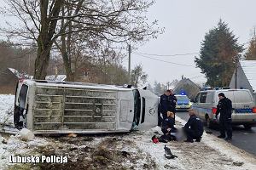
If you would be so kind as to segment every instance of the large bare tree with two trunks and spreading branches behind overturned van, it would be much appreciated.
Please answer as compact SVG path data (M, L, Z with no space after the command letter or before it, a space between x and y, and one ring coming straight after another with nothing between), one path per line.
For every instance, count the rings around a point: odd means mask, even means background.
M61 51L67 79L73 80L71 46L77 40L100 37L113 42L143 42L156 37L159 29L146 22L144 12L153 2L146 0L9 0L5 14L20 20L4 29L9 36L36 40L38 56L34 77L44 79L49 65L50 50ZM78 38L79 37L79 38Z

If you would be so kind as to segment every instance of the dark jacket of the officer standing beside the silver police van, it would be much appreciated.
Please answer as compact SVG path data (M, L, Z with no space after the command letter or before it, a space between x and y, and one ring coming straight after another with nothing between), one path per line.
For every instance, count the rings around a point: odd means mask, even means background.
M220 113L220 119L231 118L232 114L232 101L228 98L220 99L217 105L216 115Z

